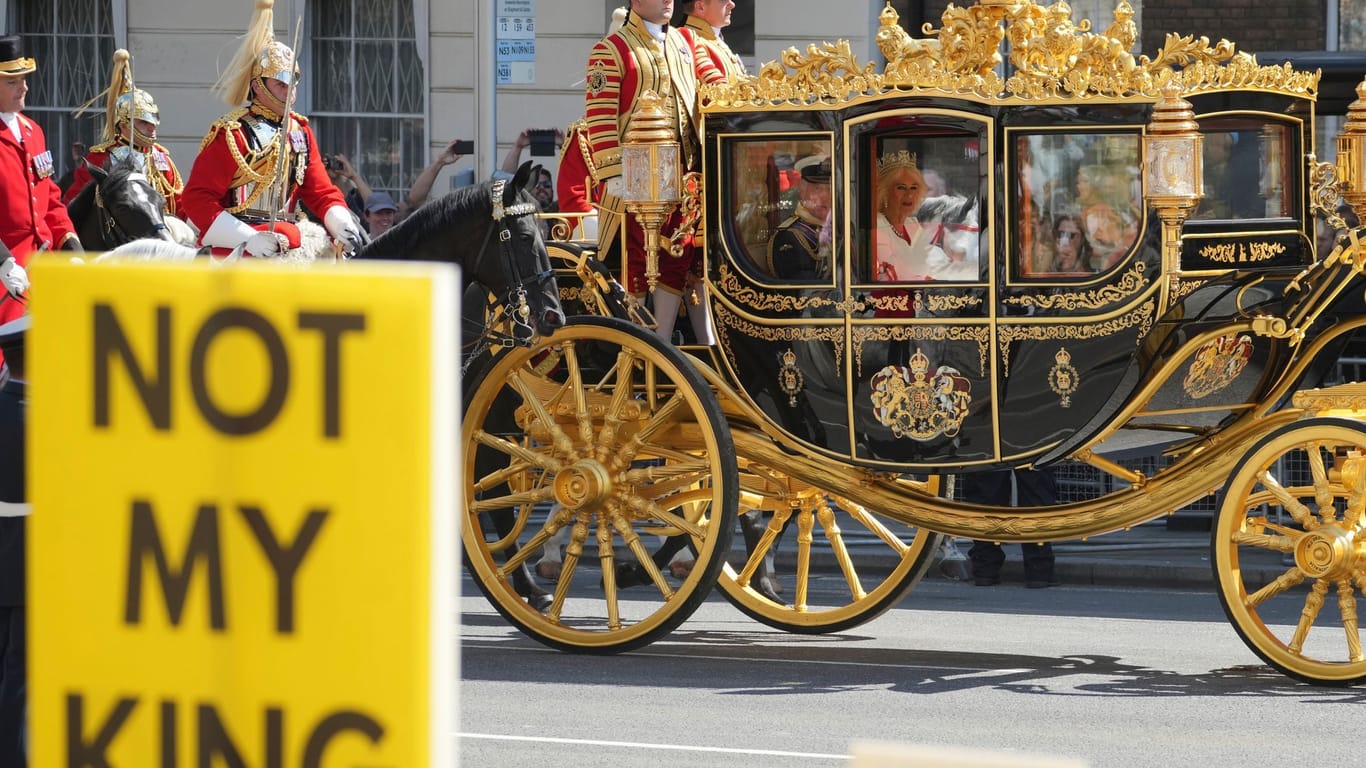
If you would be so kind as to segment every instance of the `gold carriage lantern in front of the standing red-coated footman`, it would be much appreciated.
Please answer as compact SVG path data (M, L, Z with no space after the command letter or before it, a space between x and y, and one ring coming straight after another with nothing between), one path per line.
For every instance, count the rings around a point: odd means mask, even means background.
M660 228L683 197L679 142L663 105L657 93L645 92L622 146L623 201L645 234L645 280L650 291L660 279Z

